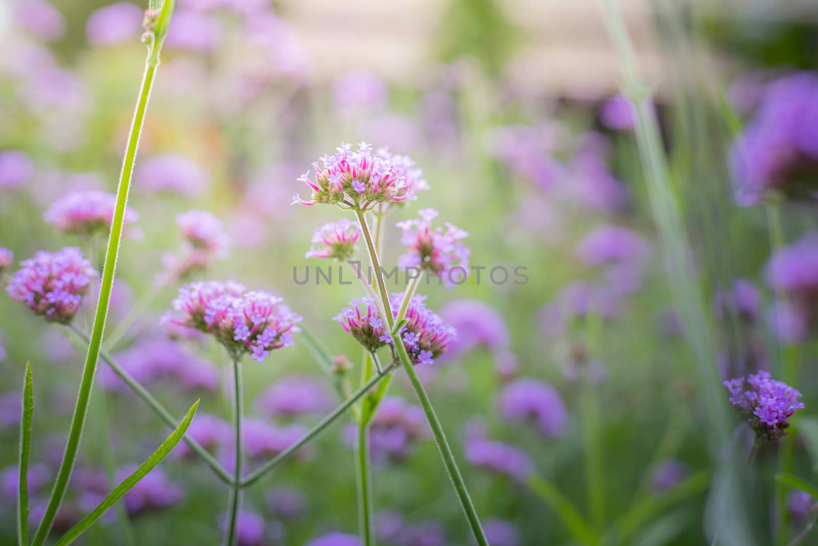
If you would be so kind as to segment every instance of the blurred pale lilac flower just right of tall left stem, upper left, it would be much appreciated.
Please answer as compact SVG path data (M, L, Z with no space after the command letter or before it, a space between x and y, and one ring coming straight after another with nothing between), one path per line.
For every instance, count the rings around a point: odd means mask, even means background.
M146 160L137 168L133 180L142 192L178 192L186 197L197 196L210 185L210 175L202 165L176 154Z

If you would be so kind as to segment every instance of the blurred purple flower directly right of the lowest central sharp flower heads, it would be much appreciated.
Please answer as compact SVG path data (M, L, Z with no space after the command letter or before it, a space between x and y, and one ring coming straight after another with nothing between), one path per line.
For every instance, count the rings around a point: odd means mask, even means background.
M509 345L506 319L480 300L455 300L440 309L440 316L454 328L457 338L449 343L446 359L456 359L476 347L503 351Z

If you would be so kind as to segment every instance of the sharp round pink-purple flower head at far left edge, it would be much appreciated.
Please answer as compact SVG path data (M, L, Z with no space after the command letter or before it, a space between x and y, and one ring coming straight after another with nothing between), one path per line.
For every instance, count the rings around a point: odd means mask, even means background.
M20 265L6 287L8 295L52 323L70 323L91 279L97 276L91 263L74 247L53 254L40 251Z

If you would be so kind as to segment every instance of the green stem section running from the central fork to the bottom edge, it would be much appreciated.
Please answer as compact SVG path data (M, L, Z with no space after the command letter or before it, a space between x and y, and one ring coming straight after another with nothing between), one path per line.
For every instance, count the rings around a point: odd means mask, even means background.
M480 518L477 515L477 511L474 509L474 504L471 502L469 490L467 490L465 487L465 482L463 481L463 476L461 476L460 469L457 467L455 456L452 454L452 449L449 447L449 443L446 440L446 435L443 433L443 426L440 425L438 416L434 413L434 408L432 407L432 402L429 400L429 395L426 395L426 390L423 388L423 385L420 384L420 378L417 377L417 372L415 372L415 368L412 366L406 347L403 346L400 332L392 333L392 341L395 348L398 350L398 358L401 359L403 369L406 370L407 376L409 376L411 386L415 390L417 398L420 400L420 406L423 408L423 411L426 414L426 419L429 421L429 426L432 428L434 440L437 442L440 456L443 458L443 466L446 467L446 472L448 473L449 478L452 480L452 485L454 486L455 493L457 494L457 499L461 503L463 512L465 512L465 518L469 522L474 539L477 541L478 546L488 546L488 540L486 539L486 535L483 533L483 527L480 526Z

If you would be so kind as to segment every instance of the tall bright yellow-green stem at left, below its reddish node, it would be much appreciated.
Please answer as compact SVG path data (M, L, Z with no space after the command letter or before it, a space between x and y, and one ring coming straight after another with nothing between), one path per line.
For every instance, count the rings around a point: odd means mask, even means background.
M119 256L119 245L122 241L125 206L128 203L128 190L131 187L133 164L136 160L139 137L142 134L142 123L145 120L145 112L147 110L148 101L151 97L151 88L153 87L156 68L158 66L158 59L153 59L153 57L154 55L149 57L145 67L145 73L142 76L142 90L139 93L137 108L133 115L133 124L131 125L131 133L128 137L128 147L125 151L122 173L119 175L119 187L117 188L116 192L114 218L112 219L110 226L105 265L102 268L100 296L99 300L97 301L97 311L94 314L91 341L88 344L88 354L86 355L85 359L83 376L79 384L77 404L74 407L74 416L71 418L68 441L65 444L65 453L63 454L62 463L60 464L60 469L56 475L56 481L54 482L54 489L52 490L51 498L48 499L48 504L45 513L43 514L43 520L40 521L37 534L34 535L32 546L43 546L45 543L48 533L51 531L54 523L56 512L59 510L62 499L65 497L65 490L68 488L71 472L74 470L74 463L77 460L77 453L79 452L79 441L83 435L85 417L88 415L88 402L90 400L91 390L94 384L94 375L97 372L97 360L99 359L102 346L102 335L105 331L106 318L108 317L110 292L111 288L114 286L116 261Z

